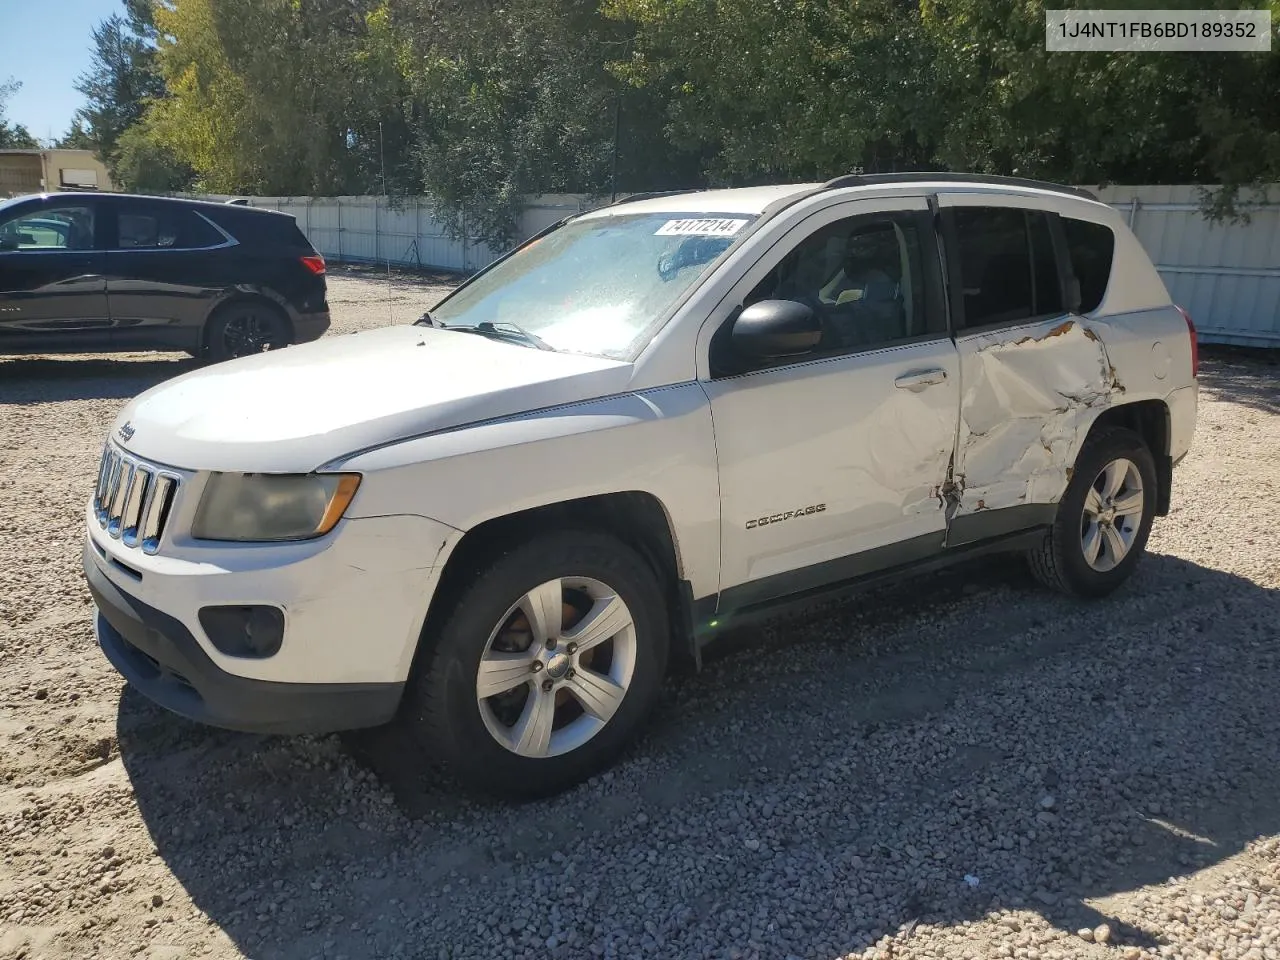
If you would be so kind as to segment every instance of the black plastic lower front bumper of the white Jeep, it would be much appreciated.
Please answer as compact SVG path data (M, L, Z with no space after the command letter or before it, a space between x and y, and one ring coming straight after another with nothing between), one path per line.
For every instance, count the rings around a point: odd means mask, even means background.
M253 733L372 727L396 713L403 684L283 684L228 673L180 621L111 582L87 543L83 566L102 653L138 692L168 710Z

